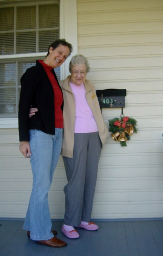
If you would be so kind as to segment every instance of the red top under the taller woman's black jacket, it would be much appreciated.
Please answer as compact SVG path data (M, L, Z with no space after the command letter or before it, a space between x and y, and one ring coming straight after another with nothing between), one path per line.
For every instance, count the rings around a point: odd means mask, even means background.
M62 105L62 102L63 102L63 96L62 96L61 89L59 88L58 83L55 80L55 77L54 77L53 73L51 72L53 67L47 65L42 60L39 60L39 62L44 67L44 69L45 69L45 71L48 75L48 78L49 78L49 80L50 80L50 82L53 86L53 90L54 90L55 127L56 128L63 128L63 113L62 113L62 110L61 110L61 105Z

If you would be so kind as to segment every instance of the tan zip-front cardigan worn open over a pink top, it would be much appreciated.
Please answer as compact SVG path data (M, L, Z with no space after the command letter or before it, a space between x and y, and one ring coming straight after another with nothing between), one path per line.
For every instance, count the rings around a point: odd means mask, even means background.
M76 113L75 98L70 87L70 77L71 76L68 76L65 80L60 81L59 84L62 88L64 97L64 132L61 155L72 158L74 149L74 129ZM108 138L108 128L106 127L104 120L102 118L98 98L93 88L93 84L89 80L84 81L84 86L86 89L86 100L88 102L90 109L92 110L93 116L98 127L99 137L101 139L102 145L104 145L106 139Z

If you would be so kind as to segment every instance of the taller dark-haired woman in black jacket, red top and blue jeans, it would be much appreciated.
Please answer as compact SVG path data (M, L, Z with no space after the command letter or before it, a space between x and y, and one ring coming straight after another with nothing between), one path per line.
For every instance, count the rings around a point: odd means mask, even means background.
M20 151L30 157L33 187L23 228L37 243L63 247L67 244L54 237L48 205L48 192L62 145L63 95L54 68L71 54L72 45L65 39L54 41L44 60L38 60L21 77L19 102ZM35 115L28 118L29 109Z

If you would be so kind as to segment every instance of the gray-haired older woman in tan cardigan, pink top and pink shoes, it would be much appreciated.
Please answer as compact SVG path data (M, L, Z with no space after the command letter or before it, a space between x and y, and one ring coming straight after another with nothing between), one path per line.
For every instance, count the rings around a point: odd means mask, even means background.
M90 222L101 147L108 137L93 84L86 80L90 67L83 55L74 56L71 73L60 85L64 96L63 156L68 184L64 187L62 232L78 238L75 227L97 230Z

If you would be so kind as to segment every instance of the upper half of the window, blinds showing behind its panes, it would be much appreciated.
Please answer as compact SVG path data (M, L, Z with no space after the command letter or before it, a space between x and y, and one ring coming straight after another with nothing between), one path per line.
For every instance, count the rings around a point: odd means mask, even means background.
M0 17L1 55L45 52L59 38L59 3L0 8Z

